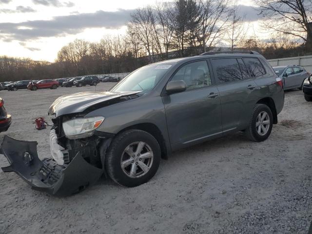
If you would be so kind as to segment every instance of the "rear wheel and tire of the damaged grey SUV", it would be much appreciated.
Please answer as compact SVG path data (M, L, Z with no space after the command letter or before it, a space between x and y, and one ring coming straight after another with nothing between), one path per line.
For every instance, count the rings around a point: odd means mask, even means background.
M255 142L264 141L270 136L272 127L273 115L270 107L265 104L256 104L249 126L245 130L246 136Z

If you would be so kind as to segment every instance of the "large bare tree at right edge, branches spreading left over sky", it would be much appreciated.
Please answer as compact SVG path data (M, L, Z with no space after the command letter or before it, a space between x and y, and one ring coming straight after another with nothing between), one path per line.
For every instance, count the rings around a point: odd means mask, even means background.
M312 2L307 0L255 0L265 28L302 39L312 50Z

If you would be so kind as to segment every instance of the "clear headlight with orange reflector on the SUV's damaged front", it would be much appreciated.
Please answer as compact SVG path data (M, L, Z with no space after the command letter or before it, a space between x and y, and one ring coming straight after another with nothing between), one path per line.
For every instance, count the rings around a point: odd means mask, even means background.
M63 130L67 138L78 139L90 137L104 121L105 117L74 118L63 122Z

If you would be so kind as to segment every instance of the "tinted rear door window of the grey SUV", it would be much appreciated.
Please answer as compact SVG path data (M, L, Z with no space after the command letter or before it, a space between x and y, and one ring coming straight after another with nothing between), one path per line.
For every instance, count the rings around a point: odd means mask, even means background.
M238 62L235 58L229 59L211 59L216 72L218 83L232 82L242 80Z

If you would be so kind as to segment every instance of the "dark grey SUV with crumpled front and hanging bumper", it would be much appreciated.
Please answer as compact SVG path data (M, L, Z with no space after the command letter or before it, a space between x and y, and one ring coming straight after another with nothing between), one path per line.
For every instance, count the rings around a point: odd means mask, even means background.
M103 173L118 184L151 179L160 158L244 131L267 139L284 105L282 80L256 52L213 52L137 69L108 92L60 97L49 109L53 158L5 136L1 151L34 189L70 195Z

